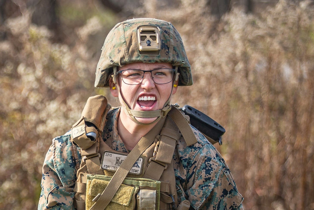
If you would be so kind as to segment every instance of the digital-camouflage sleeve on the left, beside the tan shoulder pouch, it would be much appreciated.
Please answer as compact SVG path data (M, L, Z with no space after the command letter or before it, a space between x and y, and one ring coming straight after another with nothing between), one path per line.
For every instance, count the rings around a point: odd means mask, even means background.
M42 168L38 210L74 210L73 188L78 168L78 153L70 135L53 139Z

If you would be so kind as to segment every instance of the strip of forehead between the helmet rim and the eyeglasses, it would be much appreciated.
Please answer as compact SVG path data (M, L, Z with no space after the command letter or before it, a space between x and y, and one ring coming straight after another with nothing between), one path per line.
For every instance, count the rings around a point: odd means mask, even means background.
M169 68L172 69L171 63L143 63L143 62L135 62L135 63L129 63L125 64L122 67L118 66L118 71L120 70L126 70L126 69L138 69L138 70L153 70L157 68Z

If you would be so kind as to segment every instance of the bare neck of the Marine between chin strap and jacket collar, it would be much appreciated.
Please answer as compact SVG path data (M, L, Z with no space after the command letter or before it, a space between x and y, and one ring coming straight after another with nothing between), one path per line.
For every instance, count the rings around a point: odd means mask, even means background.
M140 125L121 110L118 116L117 129L126 149L132 150L139 140L148 133L156 123L157 122L150 125Z

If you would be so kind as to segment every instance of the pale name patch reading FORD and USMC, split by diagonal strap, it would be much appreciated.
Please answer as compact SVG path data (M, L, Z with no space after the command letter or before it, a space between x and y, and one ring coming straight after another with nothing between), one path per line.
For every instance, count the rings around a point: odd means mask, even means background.
M117 154L105 151L102 155L101 168L107 171L118 170L121 163L125 160L127 155ZM140 175L142 173L143 158L139 157L130 170L130 174Z

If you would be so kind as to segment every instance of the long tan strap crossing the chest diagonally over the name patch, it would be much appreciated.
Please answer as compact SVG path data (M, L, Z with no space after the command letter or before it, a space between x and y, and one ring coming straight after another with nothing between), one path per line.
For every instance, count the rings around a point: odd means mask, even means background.
M90 210L104 210L116 191L119 189L123 180L133 167L133 164L138 160L139 156L151 145L153 144L156 136L160 133L161 128L165 123L165 118L161 118L160 121L152 128L143 138L138 142L138 144L133 148L130 154L122 162L116 173L111 178L106 189L102 192L99 199L94 203Z

